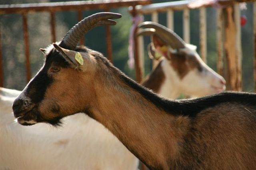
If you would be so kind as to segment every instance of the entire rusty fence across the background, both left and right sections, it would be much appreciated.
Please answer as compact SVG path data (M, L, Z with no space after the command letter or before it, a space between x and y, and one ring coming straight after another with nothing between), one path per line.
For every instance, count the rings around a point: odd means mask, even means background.
M228 84L232 90L242 90L242 51L241 51L241 34L240 34L240 2L251 2L253 0L182 0L175 2L165 2L151 4L152 0L97 0L97 1L74 1L74 2L51 2L51 3L37 3L37 4L12 4L0 5L0 15L4 14L20 14L22 15L23 22L23 35L24 35L24 51L26 56L26 80L31 78L30 70L30 53L28 42L28 21L27 14L29 12L49 12L50 13L50 30L52 42L56 42L55 31L55 12L60 11L76 11L78 13L78 21L82 20L82 11L92 9L102 9L108 12L110 9L119 8L124 6L131 6L130 12L132 16L151 14L152 21L158 22L158 13L166 12L167 27L174 28L174 11L183 11L183 35L184 41L190 43L190 9L199 8L200 10L200 55L202 59L207 62L207 46L206 46L206 8L212 6L224 6L217 8L216 12L216 44L217 44L217 70L218 73L223 75L223 58L227 59L228 68ZM202 3L208 2L208 3ZM256 91L256 2L253 2L253 43L254 43L254 89ZM106 45L107 57L112 61L112 43L110 27L106 26ZM1 30L0 30L1 31ZM136 32L135 32L136 34ZM135 35L134 34L134 35ZM224 36L222 36L224 35ZM144 64L142 62L143 54L143 39L135 39L135 68L136 80L140 82L143 77ZM84 44L84 40L80 41ZM225 51L225 52L224 52ZM0 86L3 87L3 65L2 65L2 48L1 48L1 32L0 32ZM142 167L145 168L145 167Z

